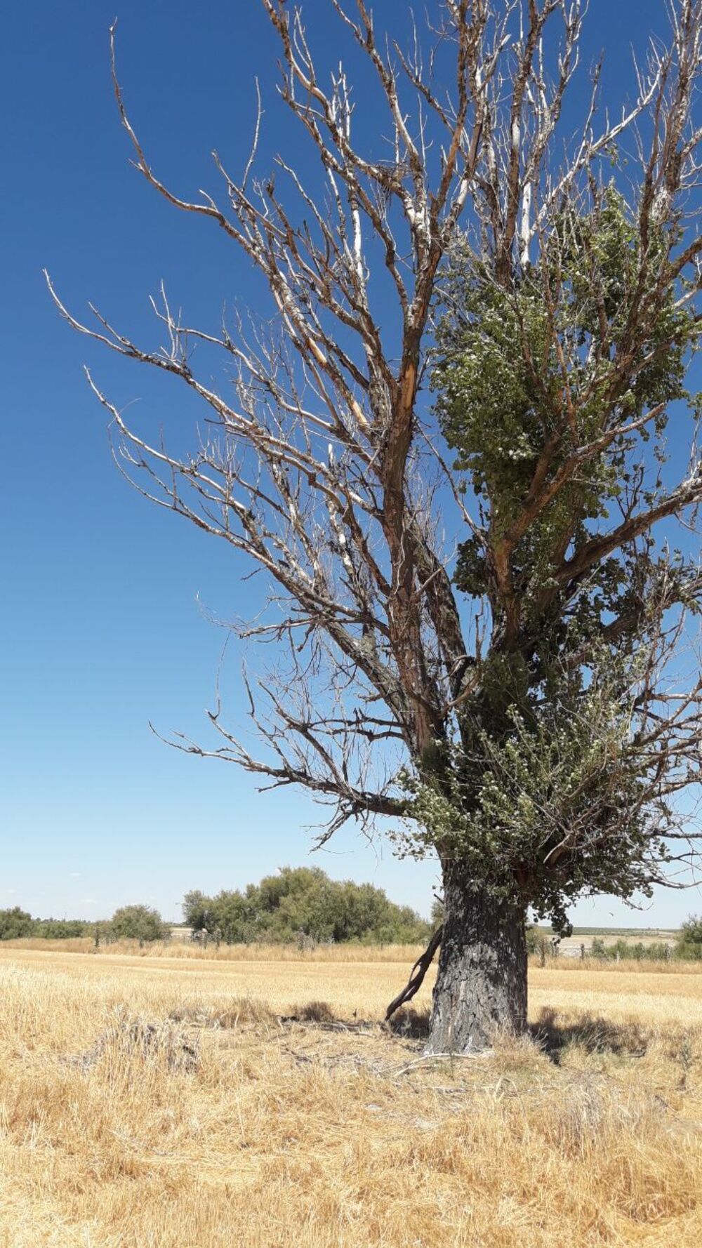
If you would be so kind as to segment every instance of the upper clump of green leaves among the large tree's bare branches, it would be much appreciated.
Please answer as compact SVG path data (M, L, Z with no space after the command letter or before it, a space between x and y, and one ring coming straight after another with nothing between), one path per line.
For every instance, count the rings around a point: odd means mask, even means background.
M492 539L503 535L523 509L545 447L556 443L551 477L572 443L562 437L563 361L578 442L597 439L607 423L626 423L658 403L695 402L685 387L686 353L698 328L690 310L676 307L671 288L638 333L631 367L620 376L617 349L631 337L636 314L640 253L636 222L622 197L610 188L585 217L570 212L555 223L537 265L511 286L458 248L447 268L443 314L437 334L433 384L437 412L455 467L467 473L488 508ZM650 242L648 286L655 288L667 261L670 237ZM663 413L653 422L657 438ZM650 431L641 434L650 437ZM583 462L570 484L530 524L513 557L523 605L540 609L543 582L558 562L563 542L586 535L588 520L607 514L630 480L620 438L607 453ZM663 448L660 447L663 456ZM623 583L617 560L600 569L601 590L617 594ZM485 549L476 537L461 547L458 588L472 595L490 589Z

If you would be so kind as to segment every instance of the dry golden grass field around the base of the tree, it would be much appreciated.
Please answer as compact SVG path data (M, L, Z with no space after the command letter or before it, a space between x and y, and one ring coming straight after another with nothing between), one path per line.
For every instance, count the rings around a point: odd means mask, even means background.
M702 1242L702 973L535 967L423 1061L410 951L141 952L0 948L1 1248Z

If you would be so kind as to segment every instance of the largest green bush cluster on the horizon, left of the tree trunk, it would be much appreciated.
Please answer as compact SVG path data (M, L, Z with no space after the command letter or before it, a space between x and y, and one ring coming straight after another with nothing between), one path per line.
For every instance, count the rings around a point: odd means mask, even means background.
M431 927L408 906L370 884L330 880L320 867L282 867L244 891L216 897L189 892L184 919L196 932L227 943L315 941L366 943L427 940Z

